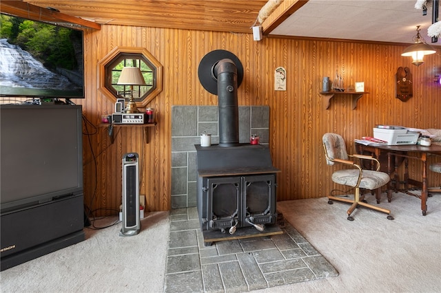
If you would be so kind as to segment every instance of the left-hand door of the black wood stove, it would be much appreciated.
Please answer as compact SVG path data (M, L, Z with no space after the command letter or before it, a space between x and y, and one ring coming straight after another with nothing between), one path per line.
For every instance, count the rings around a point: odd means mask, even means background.
M240 177L209 177L207 187L208 229L228 230L237 225L240 215Z

